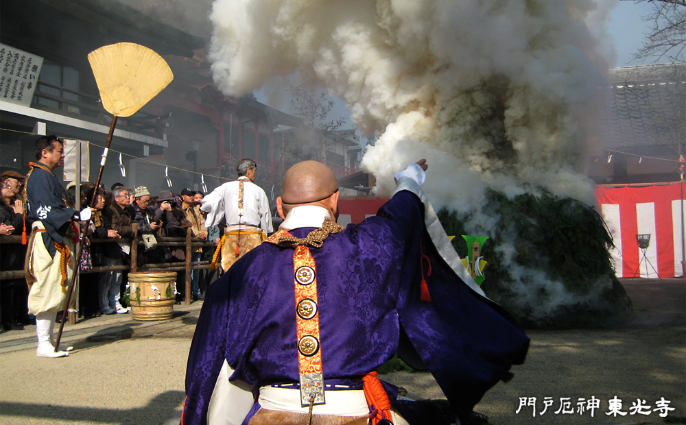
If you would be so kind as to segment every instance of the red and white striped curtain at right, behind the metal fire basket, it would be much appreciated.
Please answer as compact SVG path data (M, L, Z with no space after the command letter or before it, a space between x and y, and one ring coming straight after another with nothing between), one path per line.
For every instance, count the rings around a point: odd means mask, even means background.
M595 196L617 250L612 256L618 278L682 276L682 208L686 184L598 186ZM637 234L650 234L650 245L639 248Z

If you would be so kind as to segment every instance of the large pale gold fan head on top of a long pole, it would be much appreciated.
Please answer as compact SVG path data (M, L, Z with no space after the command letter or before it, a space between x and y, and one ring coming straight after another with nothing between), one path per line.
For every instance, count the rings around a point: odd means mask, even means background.
M115 117L130 117L174 80L157 53L132 42L118 42L88 53L102 106Z

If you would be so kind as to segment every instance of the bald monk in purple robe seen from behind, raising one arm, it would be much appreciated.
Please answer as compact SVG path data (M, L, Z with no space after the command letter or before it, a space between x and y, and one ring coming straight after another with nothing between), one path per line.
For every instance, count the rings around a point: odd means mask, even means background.
M182 424L449 424L510 378L528 338L466 273L420 189L425 169L397 173L392 199L346 228L329 167L285 173L279 231L208 289ZM397 353L434 374L447 411L379 381Z

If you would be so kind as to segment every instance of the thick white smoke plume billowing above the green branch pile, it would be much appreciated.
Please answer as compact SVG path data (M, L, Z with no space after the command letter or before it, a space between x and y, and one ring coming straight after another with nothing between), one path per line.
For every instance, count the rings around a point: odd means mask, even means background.
M514 196L541 186L595 202L582 123L606 67L598 40L607 3L216 0L210 58L227 95L295 72L327 87L362 134L379 136L362 161L376 193L427 158L424 188L436 208L469 215L467 230L488 234L498 217L483 210L486 188Z

